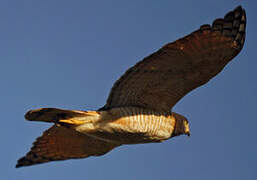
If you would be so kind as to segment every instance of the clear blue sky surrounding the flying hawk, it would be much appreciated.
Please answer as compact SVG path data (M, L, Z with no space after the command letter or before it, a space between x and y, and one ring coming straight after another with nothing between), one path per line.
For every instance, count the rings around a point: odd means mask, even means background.
M239 4L247 13L242 52L173 109L189 119L190 138L14 168L50 126L26 122L27 110L97 109L128 67ZM256 17L250 0L2 0L0 179L256 179Z

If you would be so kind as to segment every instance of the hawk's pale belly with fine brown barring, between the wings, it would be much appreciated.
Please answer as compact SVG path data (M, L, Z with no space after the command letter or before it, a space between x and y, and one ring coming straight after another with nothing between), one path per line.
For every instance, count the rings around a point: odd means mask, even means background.
M113 108L100 113L95 135L122 144L161 142L174 131L175 119L171 113L138 107Z

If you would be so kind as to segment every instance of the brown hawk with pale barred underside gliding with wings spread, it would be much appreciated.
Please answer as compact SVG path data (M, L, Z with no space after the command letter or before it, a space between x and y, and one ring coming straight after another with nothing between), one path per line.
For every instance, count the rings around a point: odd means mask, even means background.
M239 6L166 44L128 69L97 111L41 108L29 121L54 123L16 167L101 156L124 144L162 142L190 135L188 120L172 107L216 76L242 49L246 15Z

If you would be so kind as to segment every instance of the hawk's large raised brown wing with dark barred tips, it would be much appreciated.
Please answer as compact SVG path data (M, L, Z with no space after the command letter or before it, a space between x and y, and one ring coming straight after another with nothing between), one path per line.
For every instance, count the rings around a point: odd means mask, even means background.
M112 87L103 109L141 106L170 109L217 75L242 49L246 15L241 6L212 26L167 44L130 68Z

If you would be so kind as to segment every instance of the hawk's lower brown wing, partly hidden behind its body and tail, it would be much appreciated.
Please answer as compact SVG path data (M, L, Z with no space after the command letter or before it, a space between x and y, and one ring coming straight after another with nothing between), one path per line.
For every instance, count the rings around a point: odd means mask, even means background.
M119 146L71 128L54 125L33 143L31 150L18 160L16 167L49 161L100 156Z

